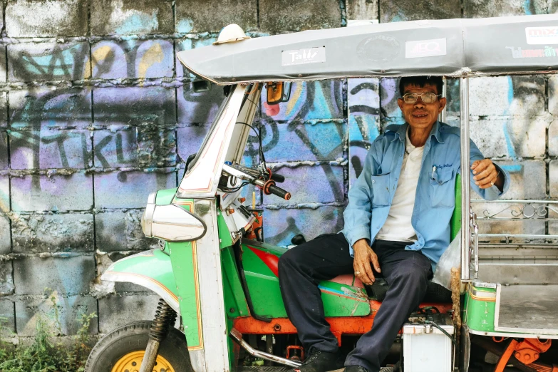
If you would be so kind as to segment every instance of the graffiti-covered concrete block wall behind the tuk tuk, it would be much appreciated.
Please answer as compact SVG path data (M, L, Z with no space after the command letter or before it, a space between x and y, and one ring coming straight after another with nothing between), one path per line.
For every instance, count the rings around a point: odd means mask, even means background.
M0 317L21 337L33 335L41 316L58 316L50 324L61 336L75 334L79 314L98 315L91 334L153 316L157 296L98 276L111 262L156 247L139 226L147 196L177 185L180 158L197 151L222 100L220 88L192 90L176 51L215 41L233 22L257 37L356 19L558 10L551 0L0 4ZM289 103L262 104L257 123L267 161L293 193L288 204L257 196L268 242L342 228L348 187L369 143L402 122L397 84L295 83ZM558 197L557 89L554 77L471 82L472 137L512 172L507 197ZM458 123L458 97L458 82L448 81L448 123ZM247 164L257 161L255 137L250 141Z

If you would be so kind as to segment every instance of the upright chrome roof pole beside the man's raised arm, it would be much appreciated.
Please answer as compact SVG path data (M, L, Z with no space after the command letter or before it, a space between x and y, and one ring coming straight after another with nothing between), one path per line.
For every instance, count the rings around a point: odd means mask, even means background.
M470 143L469 143L469 78L460 78L461 141L461 281L470 280ZM467 170L467 171L465 171Z

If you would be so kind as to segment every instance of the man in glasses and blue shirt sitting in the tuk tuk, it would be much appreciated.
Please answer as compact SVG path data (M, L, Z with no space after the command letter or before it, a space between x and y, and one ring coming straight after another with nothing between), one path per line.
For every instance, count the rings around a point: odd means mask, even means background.
M438 122L445 107L440 77L401 78L403 125L390 125L371 145L348 192L339 234L326 234L286 252L279 284L289 319L309 357L301 372L341 368L336 337L324 316L319 281L354 273L388 282L371 331L344 361L346 372L378 372L398 331L426 293L435 264L450 244L459 128ZM485 200L507 190L509 175L470 145L471 185ZM340 363L341 362L341 363Z

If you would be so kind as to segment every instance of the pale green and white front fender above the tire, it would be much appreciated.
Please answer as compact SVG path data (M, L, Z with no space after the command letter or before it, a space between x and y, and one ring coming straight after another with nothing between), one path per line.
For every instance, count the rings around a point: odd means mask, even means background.
M170 257L160 249L151 249L119 259L108 267L100 279L127 281L144 286L158 294L180 314Z

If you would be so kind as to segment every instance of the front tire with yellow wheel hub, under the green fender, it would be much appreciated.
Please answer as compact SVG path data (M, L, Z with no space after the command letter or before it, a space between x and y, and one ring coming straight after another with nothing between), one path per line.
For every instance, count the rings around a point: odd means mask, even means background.
M125 372L130 365L139 370L150 326L150 321L137 321L105 335L91 350L85 372ZM177 329L172 328L160 344L157 365L155 372L193 372L186 337Z

